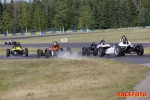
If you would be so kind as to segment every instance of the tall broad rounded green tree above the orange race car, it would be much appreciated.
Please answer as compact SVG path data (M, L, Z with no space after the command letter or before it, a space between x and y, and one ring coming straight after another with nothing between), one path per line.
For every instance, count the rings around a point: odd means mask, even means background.
M70 18L70 9L68 5L62 1L57 2L55 5L55 16L54 16L54 24L55 27L60 28L67 28L69 25L69 18Z

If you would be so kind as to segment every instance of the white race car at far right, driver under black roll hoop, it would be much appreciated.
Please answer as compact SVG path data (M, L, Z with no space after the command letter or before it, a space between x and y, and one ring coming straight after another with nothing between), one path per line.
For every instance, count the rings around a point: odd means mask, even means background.
M99 45L97 47L98 55L100 57L103 57L105 54L106 55L114 54L115 56L125 56L126 54L137 54L141 56L144 53L144 48L141 44L138 45L131 44L124 35L122 36L118 44L108 46L107 48L103 47L103 45Z

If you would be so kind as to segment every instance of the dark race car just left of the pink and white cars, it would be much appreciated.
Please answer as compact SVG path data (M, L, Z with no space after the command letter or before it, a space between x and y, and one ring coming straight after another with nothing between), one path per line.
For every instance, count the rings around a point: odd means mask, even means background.
M97 45L95 42L92 42L90 47L83 47L82 48L82 55L85 56L90 56L90 54L93 54L93 56L97 56Z

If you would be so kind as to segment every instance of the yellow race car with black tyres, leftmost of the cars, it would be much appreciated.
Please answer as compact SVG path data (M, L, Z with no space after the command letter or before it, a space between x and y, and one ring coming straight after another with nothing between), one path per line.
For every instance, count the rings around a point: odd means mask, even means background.
M13 56L19 56L24 54L26 57L28 57L28 49L22 48L19 42L15 42L11 49L6 50L6 57L9 57L10 54L12 54Z

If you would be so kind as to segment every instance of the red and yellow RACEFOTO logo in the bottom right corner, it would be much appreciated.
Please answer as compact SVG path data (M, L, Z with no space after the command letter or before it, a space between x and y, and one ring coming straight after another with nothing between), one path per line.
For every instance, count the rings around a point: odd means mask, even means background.
M117 92L117 97L125 97L125 98L132 98L132 97L147 97L146 92Z

